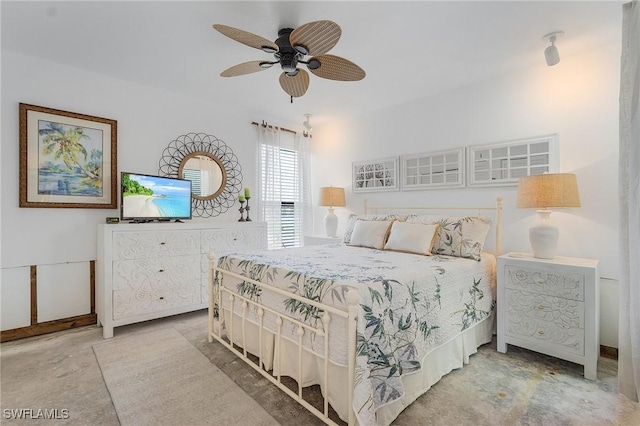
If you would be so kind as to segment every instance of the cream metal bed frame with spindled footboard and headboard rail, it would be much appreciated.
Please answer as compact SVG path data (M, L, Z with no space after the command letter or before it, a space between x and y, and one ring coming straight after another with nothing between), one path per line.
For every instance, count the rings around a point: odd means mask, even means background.
M476 215L478 217L481 216L482 212L491 212L493 211L495 214L495 251L494 254L495 256L499 256L502 252L502 197L496 197L496 205L495 206L491 206L491 207L487 207L487 206L464 206L464 207L396 207L396 206L369 206L367 203L367 200L364 201L364 212L365 214L369 214L371 211L379 211L379 210L394 210L394 211L405 211L405 210L423 210L423 211L435 211L435 210L448 210L448 211L467 211L467 210L473 210L476 211ZM309 410L312 414L314 414L316 417L318 417L320 420L322 420L323 422L325 422L328 425L335 425L338 426L338 424L336 422L334 422L332 419L329 418L329 356L328 356L328 351L329 351L329 322L331 321L331 317L332 315L338 316L338 317L342 317L342 318L346 318L347 319L347 323L348 323L348 350L347 350L347 354L348 354L348 389L350 389L350 391L348 392L348 407L349 407L349 416L348 416L348 425L352 426L355 424L356 418L355 418L355 413L353 411L353 388L354 388L354 373L355 373L355 358L356 358L356 321L357 321L357 312L358 312L358 303L359 303L359 295L355 290L351 290L347 293L346 299L347 299L347 303L348 303L348 309L347 312L342 311L340 309L336 309L333 306L330 305L326 305L323 303L318 303L315 302L313 300L307 299L305 297L301 297L297 294L285 291L285 290L281 290L279 288L273 287L269 284L265 284L259 281L256 281L254 279L251 279L249 277L246 276L242 276L239 274L236 274L234 272L231 271L227 271L225 269L221 269L218 267L217 265L217 261L216 261L216 257L215 257L215 253L210 252L209 255L209 336L208 336L208 340L209 342L213 342L213 340L217 340L218 342L220 342L222 345L224 345L225 347L227 347L231 352L233 352L236 356L238 356L240 359L242 359L245 363L247 363L249 366L251 366L254 370L256 370L257 372L259 372L263 377L265 377L267 380L269 380L271 383L273 383L274 385L276 385L278 388L280 388L283 392L285 392L287 395L289 395L291 398L293 398L295 401L297 401L300 405L302 405L303 407L305 407L307 410ZM322 327L311 327L301 321L298 321L294 318L290 318L288 316L286 316L285 314L275 311L273 309L270 309L266 306L261 305L260 303L258 303L257 301L248 299L246 297L243 297L239 294L236 294L228 289L225 289L223 286L219 285L215 288L216 291L214 291L214 277L215 274L219 273L219 274L225 274L225 275L229 275L231 277L235 277L237 279L255 284L257 286L259 286L262 289L268 289L269 291L278 293L282 296L285 296L287 298L290 299L296 299L298 301L301 301L303 303L306 303L308 305L312 305L318 309L322 309L324 311L324 316L322 318ZM226 296L230 302L230 308L229 311L231 312L231 315L229 315L229 325L228 328L229 330L234 330L234 312L235 312L235 305L234 303L236 302L236 300L238 300L241 303L241 307L242 307L242 317L240 318L240 327L241 327L241 342L237 342L238 346L241 348L240 350L236 347L236 341L234 340L234 336L233 336L233 332L227 333L227 338L225 339L223 333L222 333L222 323L220 321L217 321L215 319L215 308L216 306L218 306L218 309L220 310L220 313L222 315L222 305L217 305L217 301L218 300L222 300L222 297ZM248 352L246 349L246 325L247 325L247 312L249 308L255 308L256 312L258 313L258 328L259 328L259 342L258 342L258 347L259 347L259 354L257 354L257 358L258 358L258 362L256 363L255 361L253 361L251 358L249 358L248 356ZM277 325L277 330L274 332L273 330L269 330L266 329L262 320L264 317L265 312L269 312L270 314L273 314L276 316L276 325ZM297 336L298 336L298 342L297 342L297 349L298 349L298 380L296 380L296 382L298 383L298 390L297 392L292 391L289 387L287 387L283 382L282 382L282 377L280 375L280 368L278 369L278 374L277 375L273 375L271 374L269 371L267 371L264 367L263 367L263 353L262 353L262 349L263 349L263 336L265 331L271 334L275 334L275 344L277 346L277 356L273 359L273 365L274 368L276 365L279 365L279 363L281 362L280 360L280 355L281 355L281 351L280 351L280 345L282 343L282 325L284 324L285 321L288 321L291 324L294 324L295 327L297 327ZM323 338L324 339L324 370L323 370L323 378L324 378L324 385L326 387L326 391L323 392L323 407L322 407L322 411L318 410L316 407L314 407L312 404L310 404L308 401L306 401L303 397L302 397L302 380L300 380L300 378L302 377L302 354L303 354L303 336L305 333L313 333L315 334L317 337ZM276 364L278 363L278 364ZM296 379L295 377L293 379Z

